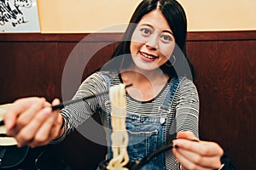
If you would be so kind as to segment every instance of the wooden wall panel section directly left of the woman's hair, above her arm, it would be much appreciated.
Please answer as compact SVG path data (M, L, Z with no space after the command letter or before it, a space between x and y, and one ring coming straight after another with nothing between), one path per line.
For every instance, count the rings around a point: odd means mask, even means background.
M113 47L112 42L60 42L59 54L66 56L61 82L63 100L71 99L80 83L108 62Z

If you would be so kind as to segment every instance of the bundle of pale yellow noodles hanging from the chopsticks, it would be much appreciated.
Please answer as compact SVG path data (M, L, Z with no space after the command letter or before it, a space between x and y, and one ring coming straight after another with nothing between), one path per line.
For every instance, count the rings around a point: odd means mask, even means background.
M126 100L125 85L119 85L109 88L109 98L111 102L111 124L113 133L111 133L113 158L108 162L107 169L125 170L125 165L129 161L127 153L128 133L125 126Z

